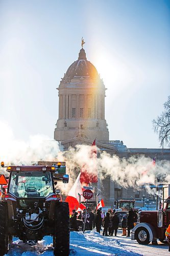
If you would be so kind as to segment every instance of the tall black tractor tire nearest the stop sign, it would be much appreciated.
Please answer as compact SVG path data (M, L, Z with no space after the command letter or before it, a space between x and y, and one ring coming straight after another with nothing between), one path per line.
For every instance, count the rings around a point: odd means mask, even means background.
M56 202L54 255L69 255L69 207L66 202Z

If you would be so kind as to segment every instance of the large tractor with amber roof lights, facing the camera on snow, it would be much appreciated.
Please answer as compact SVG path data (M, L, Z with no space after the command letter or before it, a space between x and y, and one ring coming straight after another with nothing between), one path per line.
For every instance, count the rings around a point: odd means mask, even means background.
M0 256L8 252L13 236L29 244L52 236L54 255L69 255L68 203L60 202L55 189L57 181L68 183L69 177L59 175L60 168L60 162L7 167L7 193L0 201Z

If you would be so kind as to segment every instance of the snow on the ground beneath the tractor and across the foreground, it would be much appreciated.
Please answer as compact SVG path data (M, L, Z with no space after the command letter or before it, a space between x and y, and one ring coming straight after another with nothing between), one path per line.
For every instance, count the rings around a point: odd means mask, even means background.
M118 230L117 237L104 237L95 230L70 232L70 256L139 256L139 255L169 255L168 246L159 242L157 246L139 245L130 238L122 237L122 230ZM8 256L53 256L53 238L44 237L36 245L23 244L17 238L13 239Z

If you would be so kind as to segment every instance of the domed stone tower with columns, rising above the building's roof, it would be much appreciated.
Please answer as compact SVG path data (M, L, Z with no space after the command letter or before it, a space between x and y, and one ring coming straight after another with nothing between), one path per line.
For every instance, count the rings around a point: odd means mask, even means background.
M92 71L91 71L92 70ZM105 86L95 67L86 59L84 49L71 64L59 87L59 118L54 139L75 137L108 140L105 120Z

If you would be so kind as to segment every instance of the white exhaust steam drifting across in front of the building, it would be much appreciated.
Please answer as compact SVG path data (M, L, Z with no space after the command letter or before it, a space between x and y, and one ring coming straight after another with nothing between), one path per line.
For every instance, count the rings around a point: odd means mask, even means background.
M156 167L153 166L151 158L140 156L120 159L106 152L101 153L96 159L92 157L92 147L88 145L77 145L75 149L70 147L69 150L62 151L57 141L50 140L44 135L30 136L28 141L16 140L6 123L0 124L0 141L0 161L4 161L6 165L30 165L41 160L65 161L67 174L70 177L69 183L65 185L58 182L59 188L65 195L84 166L91 174L98 169L101 180L110 177L111 180L126 188L130 186L140 189L144 184L155 184L156 175L160 177L160 183L170 183L170 162L165 160L158 159ZM147 187L151 192L149 186Z

